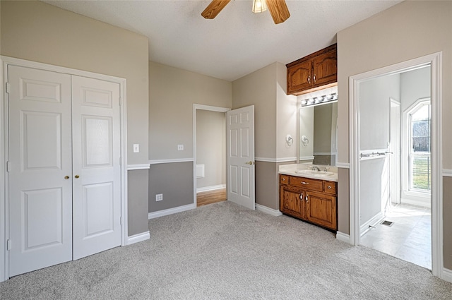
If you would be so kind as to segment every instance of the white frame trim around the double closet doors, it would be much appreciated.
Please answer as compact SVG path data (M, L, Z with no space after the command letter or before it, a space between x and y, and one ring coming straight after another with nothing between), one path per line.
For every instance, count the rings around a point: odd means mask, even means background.
M127 112L126 112L126 79L104 74L92 73L88 71L77 70L73 68L66 68L61 66L54 66L51 64L42 64L35 61L28 61L25 59L16 59L9 56L0 56L0 124L3 125L3 130L0 130L0 282L8 280L9 265L8 265L8 251L7 240L8 236L8 173L6 170L6 162L8 161L8 109L7 109L7 93L6 93L6 79L8 78L8 65L22 66L25 68L37 68L44 71L53 71L57 73L66 73L69 75L76 75L82 77L95 78L105 80L112 83L119 84L119 97L121 97L120 110L120 167L121 167L121 246L127 244Z

